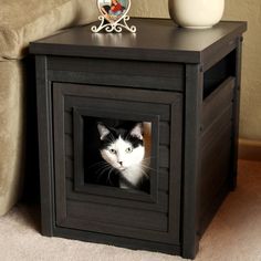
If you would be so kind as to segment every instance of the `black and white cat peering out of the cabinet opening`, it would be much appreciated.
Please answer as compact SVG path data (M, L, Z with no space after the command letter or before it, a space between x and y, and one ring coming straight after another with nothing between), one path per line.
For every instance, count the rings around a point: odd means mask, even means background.
M148 191L149 158L145 156L143 123L136 123L130 128L126 128L126 126L108 127L100 122L97 129L101 139L101 156L107 166L118 173L119 188ZM146 188L143 187L145 184L147 184Z

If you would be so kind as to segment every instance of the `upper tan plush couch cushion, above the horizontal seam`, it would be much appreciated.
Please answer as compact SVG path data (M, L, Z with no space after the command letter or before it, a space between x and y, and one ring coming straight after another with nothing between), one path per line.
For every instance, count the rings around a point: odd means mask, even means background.
M96 19L96 0L1 0L0 61L21 59L31 41Z

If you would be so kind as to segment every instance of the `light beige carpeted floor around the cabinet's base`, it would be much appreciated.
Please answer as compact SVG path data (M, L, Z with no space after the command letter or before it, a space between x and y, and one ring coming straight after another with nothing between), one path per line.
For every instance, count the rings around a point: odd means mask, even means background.
M40 234L39 209L19 205L0 218L1 261L181 261ZM200 241L196 261L261 261L261 163L239 163L238 188L221 206Z

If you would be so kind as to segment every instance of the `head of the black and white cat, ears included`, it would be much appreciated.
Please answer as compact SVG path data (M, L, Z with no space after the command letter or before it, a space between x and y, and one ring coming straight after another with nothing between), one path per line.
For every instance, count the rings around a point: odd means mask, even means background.
M138 165L145 156L143 124L137 123L130 129L107 127L97 124L101 138L101 155L114 168L124 171Z

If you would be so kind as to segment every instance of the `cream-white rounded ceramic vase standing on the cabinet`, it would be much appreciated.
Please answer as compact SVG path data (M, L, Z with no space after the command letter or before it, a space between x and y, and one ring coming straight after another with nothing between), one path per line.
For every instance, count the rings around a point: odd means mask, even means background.
M180 27L211 28L223 14L225 0L168 0L169 15Z

